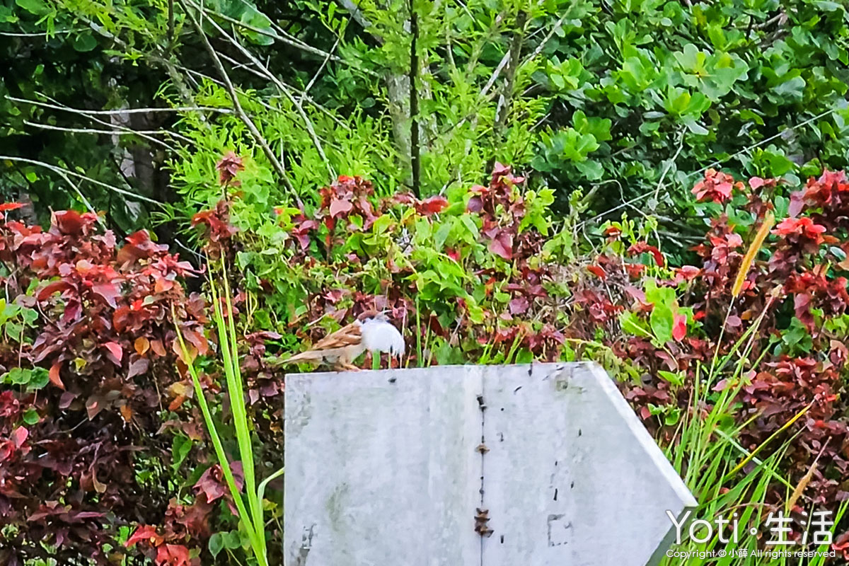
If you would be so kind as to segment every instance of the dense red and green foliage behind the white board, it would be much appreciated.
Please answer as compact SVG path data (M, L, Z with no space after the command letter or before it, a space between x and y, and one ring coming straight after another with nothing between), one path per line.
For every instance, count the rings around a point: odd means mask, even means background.
M700 516L782 510L801 541L829 510L849 553L847 22L3 0L0 561L251 563L189 375L237 454L224 277L260 477L278 356L376 307L410 366L599 361Z

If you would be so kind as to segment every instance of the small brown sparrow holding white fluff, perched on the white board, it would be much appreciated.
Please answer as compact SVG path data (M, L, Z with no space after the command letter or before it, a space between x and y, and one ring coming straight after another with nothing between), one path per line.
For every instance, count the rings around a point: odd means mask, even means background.
M354 322L329 333L309 350L284 360L285 364L328 363L335 369L359 371L352 362L364 351L404 355L404 338L385 312L365 311Z

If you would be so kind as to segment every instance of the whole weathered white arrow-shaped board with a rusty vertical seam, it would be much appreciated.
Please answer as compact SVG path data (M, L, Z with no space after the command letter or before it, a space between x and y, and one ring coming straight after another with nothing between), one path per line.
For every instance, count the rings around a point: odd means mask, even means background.
M285 434L285 566L643 566L695 506L594 364L293 374Z

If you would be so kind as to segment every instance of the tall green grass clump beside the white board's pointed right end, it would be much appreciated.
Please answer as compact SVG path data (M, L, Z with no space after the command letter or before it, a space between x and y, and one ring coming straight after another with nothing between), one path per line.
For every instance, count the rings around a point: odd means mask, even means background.
M683 412L675 437L666 446L665 452L666 457L681 474L684 483L700 503L689 519L708 521L712 525L713 535L704 542L692 541L689 538L689 529L685 526L682 530L682 544L673 545L672 550L694 552L694 554L689 558L664 558L661 564L665 566L673 564L678 566L683 563L683 560L688 566L700 564L818 566L827 560L822 554L829 551L828 545L820 545L816 549L801 545L775 546L770 549L820 552L819 556L810 558L773 558L752 555L758 548L765 548L764 536L767 537L767 541L773 538L769 529L765 528L767 491L774 489L776 485L783 486L786 490L786 501L796 490L796 485L793 485L790 479L785 478L780 471L784 463L784 455L793 444L796 435L780 444L776 444L775 441L810 408L807 406L796 413L752 451L745 450L736 440L739 438L740 431L758 416L756 414L739 423L736 412L740 406L735 399L740 389L746 384L745 371L757 367L761 361L761 358L750 361L750 356L753 337L762 318L763 314L751 325L751 328L747 329L727 355L714 356L711 366L707 369L701 366L696 367L689 399L689 411ZM713 386L722 378L727 380L727 386L718 393L716 398L711 398ZM706 406L711 406L711 409L702 417L700 413ZM835 525L840 523L846 512L846 505L847 503L844 502L835 516L830 518ZM809 513L812 511L813 509L810 509ZM724 518L729 521L729 524L737 521L736 540L732 537L731 530L721 532L717 529L717 518ZM791 526L798 530L800 525L792 524ZM751 533L752 528L757 529L756 534ZM834 530L835 526L832 526L832 537L835 536ZM706 535L706 528L695 530L694 534L697 539L702 539ZM725 541L722 541L720 536ZM809 530L808 536L812 536L812 530ZM739 550L745 551L746 556L739 556L737 552ZM725 552L725 556L711 556L712 552Z

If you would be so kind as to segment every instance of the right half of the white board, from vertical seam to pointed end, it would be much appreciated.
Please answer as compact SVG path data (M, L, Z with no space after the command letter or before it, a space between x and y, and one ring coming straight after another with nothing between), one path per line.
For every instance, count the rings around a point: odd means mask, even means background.
M672 530L666 509L679 515L695 501L601 367L509 367L483 384L494 531L484 564L643 566L660 558L652 555Z

